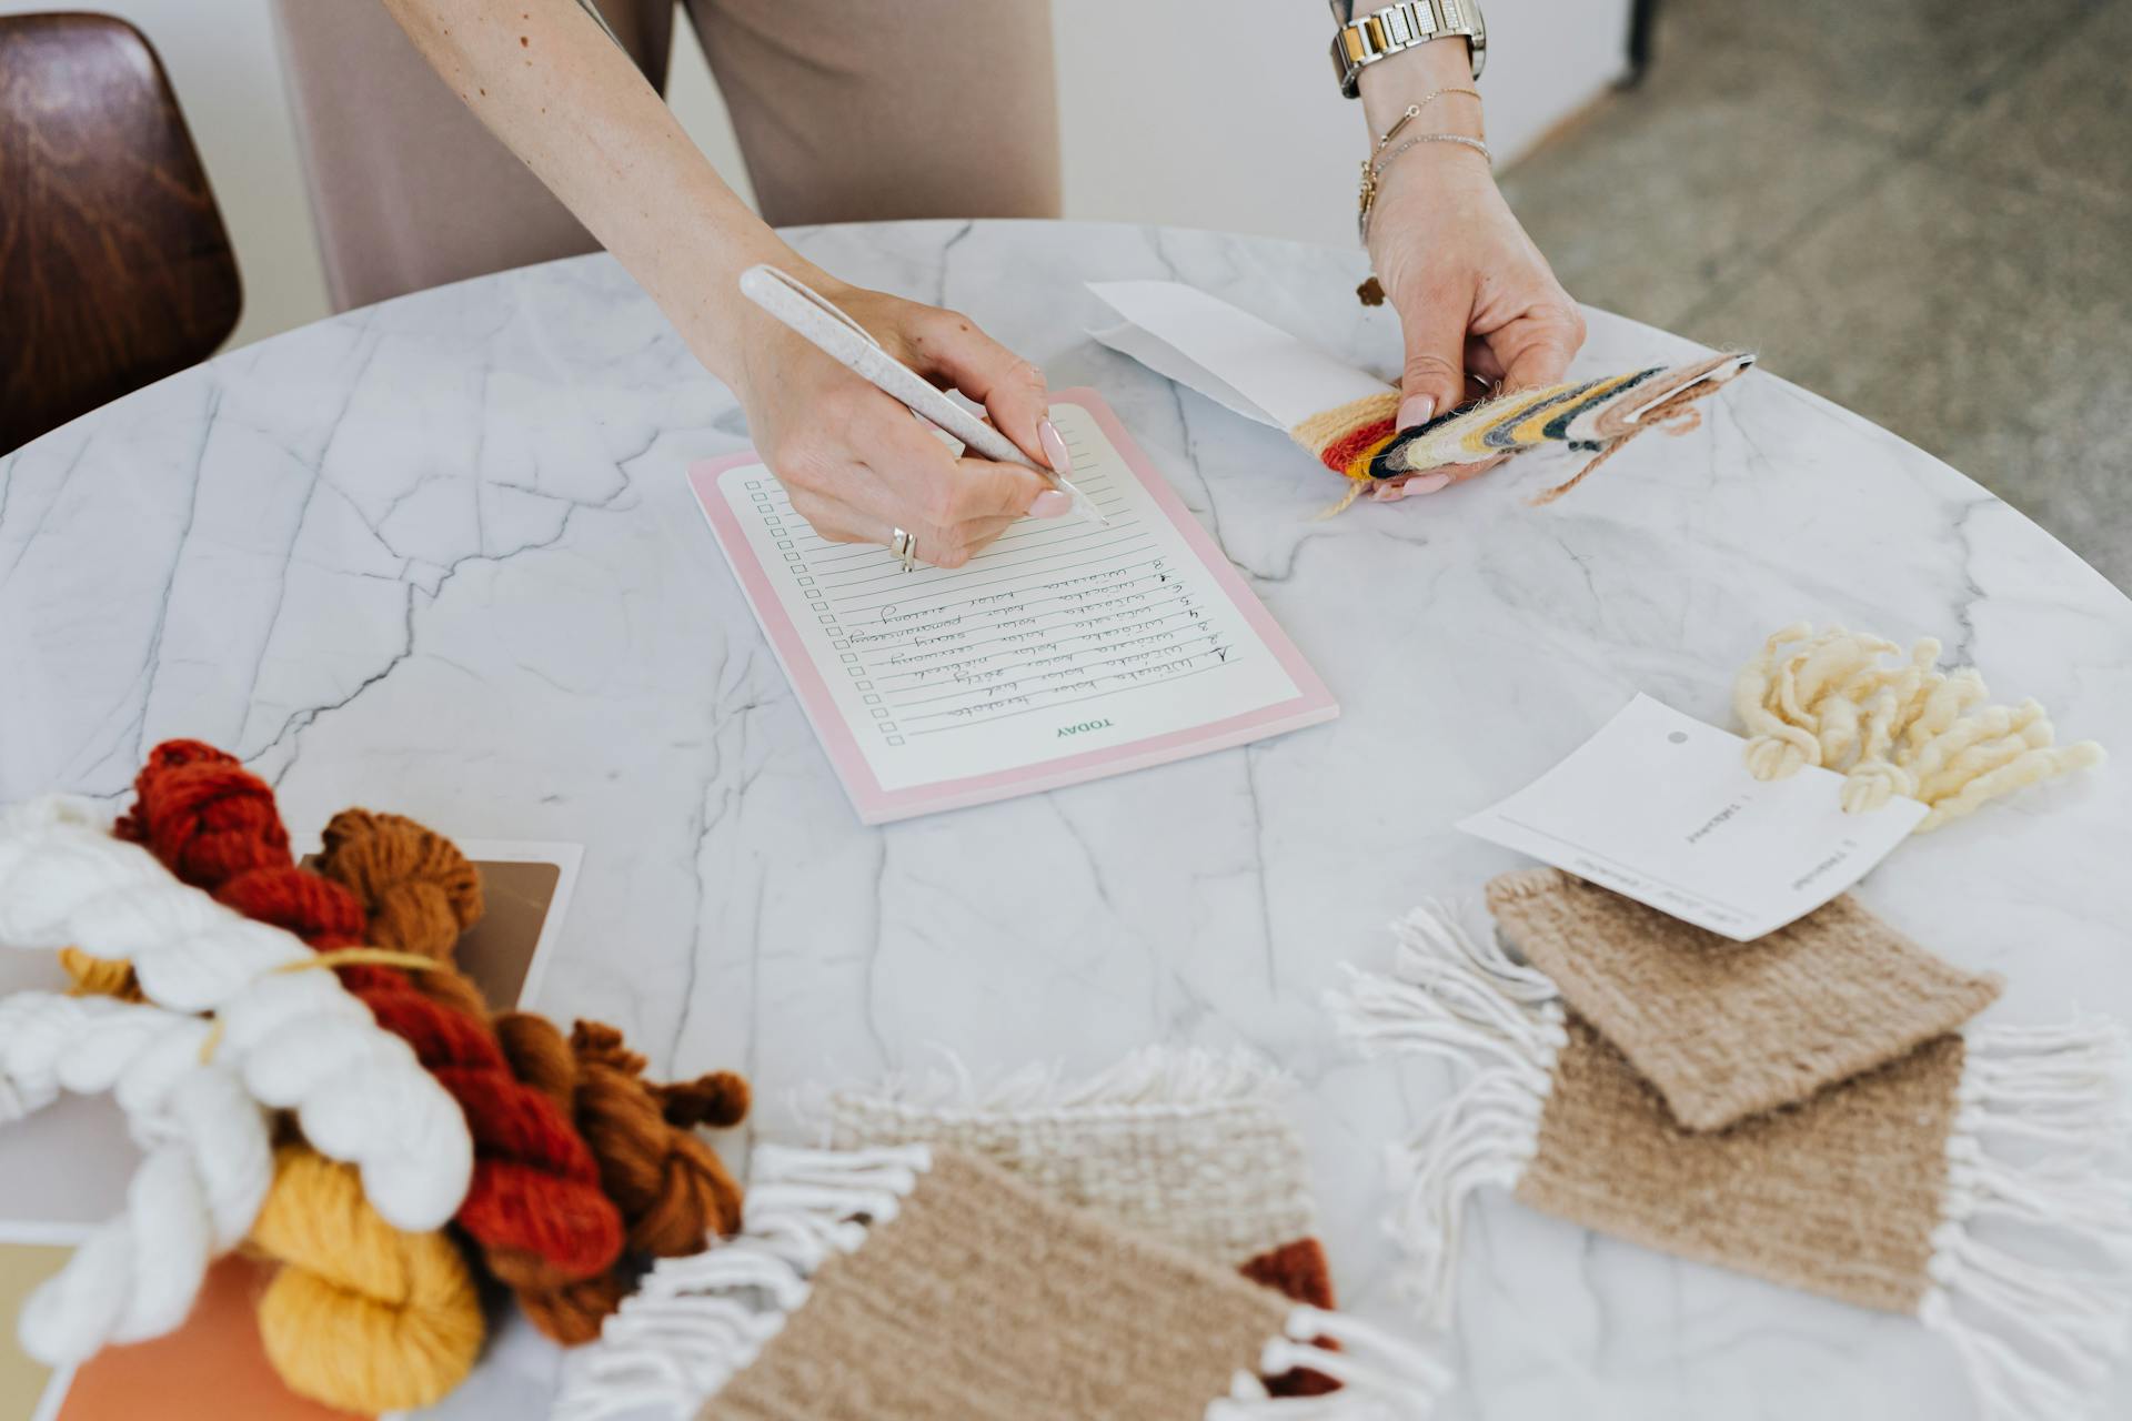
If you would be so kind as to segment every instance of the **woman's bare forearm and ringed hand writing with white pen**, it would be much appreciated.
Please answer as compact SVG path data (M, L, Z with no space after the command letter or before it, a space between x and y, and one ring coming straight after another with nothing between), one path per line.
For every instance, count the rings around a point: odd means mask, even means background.
M906 364L981 401L1047 462L1043 373L953 311L844 285L733 196L635 64L578 0L386 0L422 58L659 303L740 396L748 430L823 537L917 537L955 567L1025 511L1064 511L1025 471L955 460L910 413L740 296L774 262ZM1032 507L1034 505L1034 507Z

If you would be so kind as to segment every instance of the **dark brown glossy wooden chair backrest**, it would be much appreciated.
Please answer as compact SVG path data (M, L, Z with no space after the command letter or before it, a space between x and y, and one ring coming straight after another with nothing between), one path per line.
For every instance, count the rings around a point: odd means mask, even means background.
M0 452L215 352L243 288L147 38L0 17Z

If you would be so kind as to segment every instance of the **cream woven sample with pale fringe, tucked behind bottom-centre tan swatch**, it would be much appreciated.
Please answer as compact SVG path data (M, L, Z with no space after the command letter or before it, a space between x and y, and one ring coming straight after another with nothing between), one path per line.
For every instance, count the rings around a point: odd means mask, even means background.
M1309 1163L1245 1057L1149 1048L1085 1082L1023 1074L846 1087L819 1116L836 1148L938 1144L983 1155L1053 1199L1226 1268L1318 1234Z

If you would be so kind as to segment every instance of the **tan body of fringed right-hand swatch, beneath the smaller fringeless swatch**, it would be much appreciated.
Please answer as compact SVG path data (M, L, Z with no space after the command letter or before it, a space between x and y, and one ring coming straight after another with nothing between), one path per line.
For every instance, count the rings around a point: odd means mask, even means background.
M1725 1131L1686 1131L1586 1020L1518 1178L1524 1204L1680 1257L1917 1312L1947 1185L1961 1038Z

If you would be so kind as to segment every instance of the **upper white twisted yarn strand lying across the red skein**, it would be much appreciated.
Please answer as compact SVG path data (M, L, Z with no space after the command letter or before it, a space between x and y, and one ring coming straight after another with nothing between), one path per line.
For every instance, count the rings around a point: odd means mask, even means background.
M294 1110L311 1146L362 1172L399 1229L441 1227L467 1195L467 1118L407 1042L379 1029L292 933L175 880L79 799L0 812L0 946L124 957L149 1001L213 1012L215 1061L252 1099Z

